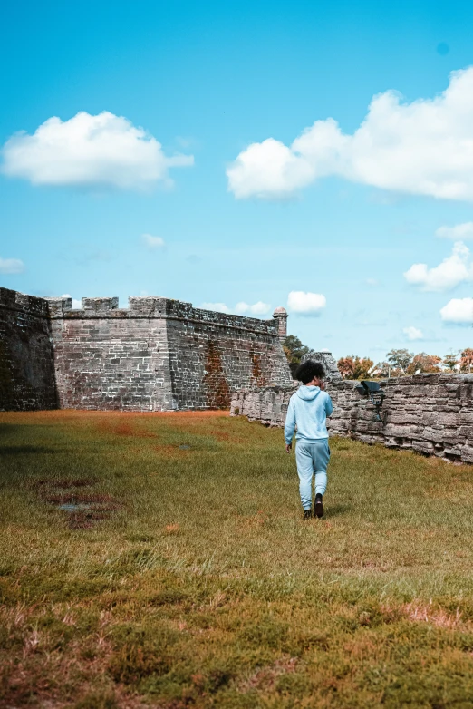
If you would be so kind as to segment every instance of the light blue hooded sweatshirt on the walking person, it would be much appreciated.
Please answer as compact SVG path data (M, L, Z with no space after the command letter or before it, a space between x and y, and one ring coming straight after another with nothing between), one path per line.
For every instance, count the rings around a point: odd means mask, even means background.
M289 401L285 417L285 442L317 442L328 438L326 420L333 412L332 399L318 386L301 386Z

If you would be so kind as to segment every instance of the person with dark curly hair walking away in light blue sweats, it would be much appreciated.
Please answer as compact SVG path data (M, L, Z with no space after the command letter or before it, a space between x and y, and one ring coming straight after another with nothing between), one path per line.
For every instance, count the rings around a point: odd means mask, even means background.
M295 461L304 520L312 517L312 478L315 475L314 515L323 517L323 494L327 487L330 459L327 416L333 413L332 399L324 391L323 364L308 360L295 378L303 385L291 396L285 417L285 450L290 453L295 433Z

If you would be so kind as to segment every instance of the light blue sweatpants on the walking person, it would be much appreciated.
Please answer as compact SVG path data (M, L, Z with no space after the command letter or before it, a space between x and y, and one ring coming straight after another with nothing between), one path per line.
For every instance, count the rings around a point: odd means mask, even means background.
M304 510L312 507L312 476L315 475L315 494L321 495L327 487L327 465L330 460L330 448L327 438L317 442L297 441L295 443L295 461L299 475L299 491Z

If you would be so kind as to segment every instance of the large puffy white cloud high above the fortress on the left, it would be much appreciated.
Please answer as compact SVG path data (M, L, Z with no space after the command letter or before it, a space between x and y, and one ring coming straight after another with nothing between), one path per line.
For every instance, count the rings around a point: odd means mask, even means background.
M33 135L15 133L2 150L2 171L34 185L108 185L146 188L169 182L168 169L192 165L191 155L167 157L161 144L123 116L81 111L69 121L53 116Z

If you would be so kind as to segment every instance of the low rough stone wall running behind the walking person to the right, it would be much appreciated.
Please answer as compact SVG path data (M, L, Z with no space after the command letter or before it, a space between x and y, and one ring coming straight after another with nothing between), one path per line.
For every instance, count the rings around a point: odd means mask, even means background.
M381 410L386 412L385 423L375 420L374 407L355 390L357 384L327 385L333 401L331 436L473 462L473 374L417 374L381 382L386 394ZM294 383L236 392L231 414L284 426L287 404L297 387Z

